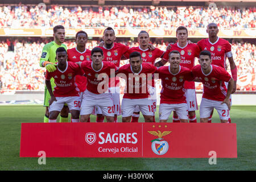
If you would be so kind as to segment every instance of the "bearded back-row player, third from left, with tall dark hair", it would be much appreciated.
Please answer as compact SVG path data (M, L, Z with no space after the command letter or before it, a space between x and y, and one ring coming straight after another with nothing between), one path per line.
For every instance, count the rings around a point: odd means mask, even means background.
M115 43L115 32L113 28L108 27L104 30L104 35L102 36L104 41L104 46L100 47L104 53L104 60L110 63L114 63L117 68L120 67L120 60L124 53L129 50L128 46L120 43ZM111 78L109 80L109 90L112 93L113 105L114 105L114 118L117 122L117 115L121 115L120 108L120 96L119 96L119 78ZM99 107L97 107L97 122L103 122L104 115Z

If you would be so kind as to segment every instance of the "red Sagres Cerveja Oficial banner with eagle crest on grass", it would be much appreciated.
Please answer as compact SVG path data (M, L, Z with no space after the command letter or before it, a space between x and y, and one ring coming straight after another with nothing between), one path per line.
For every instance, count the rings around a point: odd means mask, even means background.
M237 158L235 123L22 123L20 157Z

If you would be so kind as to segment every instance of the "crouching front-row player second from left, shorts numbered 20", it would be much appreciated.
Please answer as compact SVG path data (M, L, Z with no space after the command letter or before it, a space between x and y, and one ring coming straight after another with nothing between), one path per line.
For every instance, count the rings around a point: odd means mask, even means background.
M92 61L77 63L87 78L87 86L81 105L81 122L88 122L96 105L101 108L107 122L114 122L114 106L112 94L109 92L109 78L112 71L115 74L115 64L102 61L104 54L99 47L92 49L91 59Z

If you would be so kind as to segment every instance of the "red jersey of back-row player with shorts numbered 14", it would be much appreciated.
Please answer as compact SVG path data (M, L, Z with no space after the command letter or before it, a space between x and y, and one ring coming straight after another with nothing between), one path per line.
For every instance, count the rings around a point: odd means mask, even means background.
M180 52L180 65L181 67L186 67L192 70L192 68L195 66L195 59L200 54L200 48L196 44L188 44L184 47L180 47L178 43L175 43L172 45L170 49L164 53L163 59L169 60L169 53L171 51L177 50ZM193 81L185 81L185 89L195 89L195 82Z

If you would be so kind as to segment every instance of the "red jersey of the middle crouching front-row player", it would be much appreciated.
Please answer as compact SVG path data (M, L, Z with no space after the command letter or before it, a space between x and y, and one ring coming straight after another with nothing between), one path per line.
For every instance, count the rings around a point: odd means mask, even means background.
M130 64L123 65L117 73L123 73L126 76L126 88L123 98L139 99L148 98L147 85L153 82L152 74L157 70L152 64L142 63L141 71L134 73ZM151 85L151 84L149 84Z

